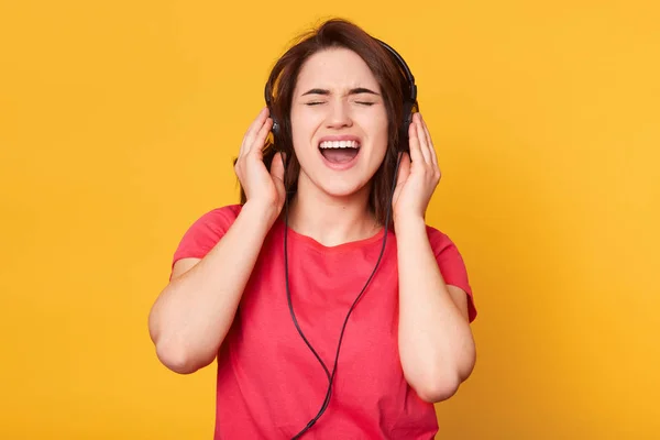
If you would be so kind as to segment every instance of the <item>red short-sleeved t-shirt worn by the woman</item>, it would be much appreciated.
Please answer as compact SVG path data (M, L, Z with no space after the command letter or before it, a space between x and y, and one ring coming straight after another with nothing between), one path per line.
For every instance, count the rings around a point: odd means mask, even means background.
M240 209L227 206L199 218L185 233L174 262L202 258ZM326 396L328 377L290 316L284 229L278 220L266 237L218 353L216 440L290 439L317 415ZM457 246L440 231L427 231L444 280L468 293L474 320L472 290ZM404 378L397 345L396 239L388 234L378 271L346 324L330 405L302 439L428 440L438 431L435 406L421 400ZM383 232L337 246L290 228L287 235L294 311L331 373L343 321L374 268Z

